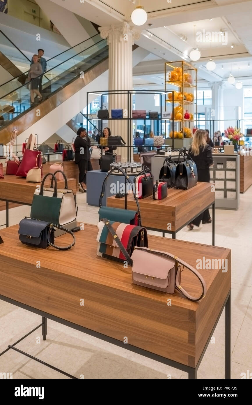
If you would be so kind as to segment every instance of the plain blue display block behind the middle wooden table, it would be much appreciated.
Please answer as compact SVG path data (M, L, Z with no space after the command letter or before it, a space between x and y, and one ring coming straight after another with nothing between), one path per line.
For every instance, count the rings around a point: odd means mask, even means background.
M94 205L99 207L99 198L102 192L102 184L108 173L101 172L100 170L92 170L87 172L87 203L88 205ZM135 175L129 175L129 178L133 182ZM107 205L107 198L114 196L114 185L116 185L116 190L120 191L125 184L125 177L123 175L111 175L108 177L106 182L106 187L104 191L104 196L102 198L102 206Z

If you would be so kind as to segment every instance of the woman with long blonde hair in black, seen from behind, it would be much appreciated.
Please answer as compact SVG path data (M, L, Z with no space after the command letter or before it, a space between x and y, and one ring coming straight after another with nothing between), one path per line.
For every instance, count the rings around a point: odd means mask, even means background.
M207 143L207 135L203 130L197 130L193 136L193 143L188 150L188 154L191 156L196 164L198 172L198 181L204 183L210 182L209 168L213 164L212 147ZM194 225L199 226L202 220L202 224L210 224L212 222L209 209L206 209L195 220L188 224L189 230L192 230Z

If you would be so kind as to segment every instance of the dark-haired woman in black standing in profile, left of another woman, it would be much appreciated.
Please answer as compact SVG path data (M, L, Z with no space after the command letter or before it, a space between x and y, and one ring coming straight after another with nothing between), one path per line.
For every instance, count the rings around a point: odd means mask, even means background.
M87 150L88 144L88 150ZM79 191L81 193L86 193L87 188L87 171L93 170L93 167L90 162L90 152L89 145L91 144L90 139L88 138L87 142L87 130L86 128L79 128L77 131L77 136L74 141L75 163L78 164L79 168ZM88 153L88 156L87 156Z

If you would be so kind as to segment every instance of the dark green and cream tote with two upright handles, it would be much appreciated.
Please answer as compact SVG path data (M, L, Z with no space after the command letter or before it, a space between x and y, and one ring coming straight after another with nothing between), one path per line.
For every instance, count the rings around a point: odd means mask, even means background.
M51 222L56 225L68 224L76 220L77 210L74 200L74 193L68 188L68 181L64 172L61 172L65 179L65 188L57 189L57 180L53 173L44 176L40 192L35 190L31 217L36 220ZM51 188L44 188L45 179L52 176ZM54 181L54 187L53 187Z

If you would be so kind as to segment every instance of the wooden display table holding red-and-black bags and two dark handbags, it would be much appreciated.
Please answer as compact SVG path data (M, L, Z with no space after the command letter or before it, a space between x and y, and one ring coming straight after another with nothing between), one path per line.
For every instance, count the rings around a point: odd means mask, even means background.
M212 214L212 244L214 245L214 192L210 183L200 183L190 190L168 188L168 196L163 200L153 200L152 196L138 200L142 218L142 226L150 230L158 230L172 234L176 239L176 232L190 224L200 213L211 205ZM124 208L124 198L107 198L107 206ZM136 211L133 195L127 197L127 208Z

